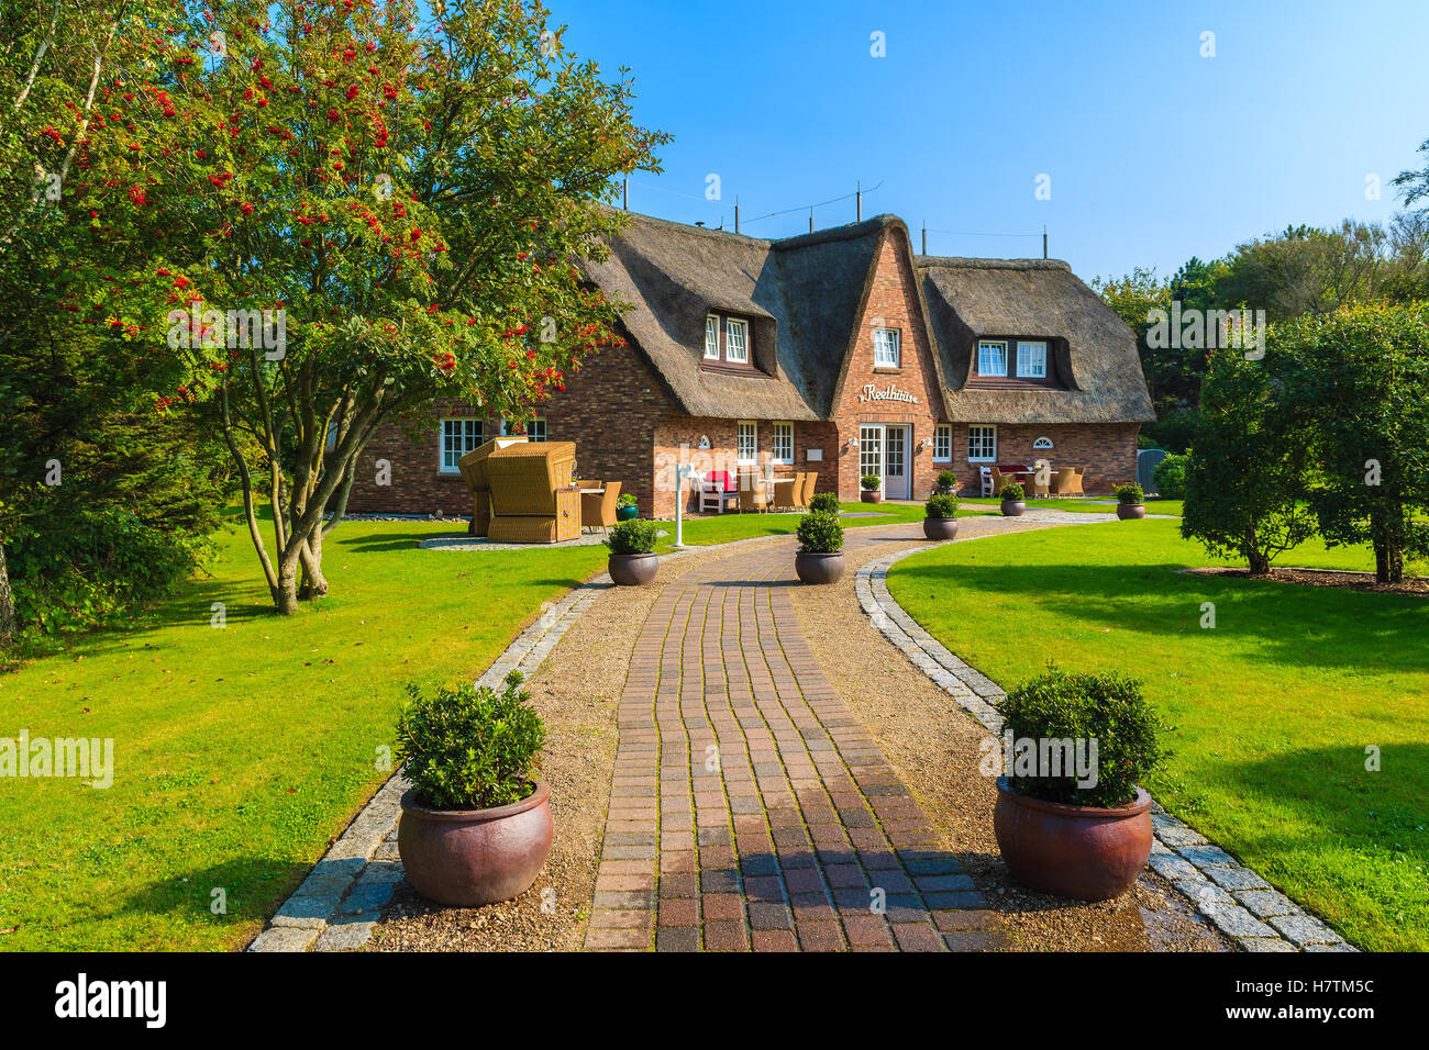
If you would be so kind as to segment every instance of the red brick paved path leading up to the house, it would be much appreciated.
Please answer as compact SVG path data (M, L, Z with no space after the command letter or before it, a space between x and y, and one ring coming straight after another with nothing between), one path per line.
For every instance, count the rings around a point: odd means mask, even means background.
M873 541L859 530L849 549ZM813 659L790 586L792 540L732 553L650 610L586 947L1000 947L983 896Z

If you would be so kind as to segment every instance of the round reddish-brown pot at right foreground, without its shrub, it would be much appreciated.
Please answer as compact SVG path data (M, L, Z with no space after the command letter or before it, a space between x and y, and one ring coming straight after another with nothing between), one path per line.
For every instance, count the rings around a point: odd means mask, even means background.
M1059 897L1110 900L1126 893L1152 856L1152 797L1140 787L1120 809L1027 799L997 777L992 827L1012 877Z

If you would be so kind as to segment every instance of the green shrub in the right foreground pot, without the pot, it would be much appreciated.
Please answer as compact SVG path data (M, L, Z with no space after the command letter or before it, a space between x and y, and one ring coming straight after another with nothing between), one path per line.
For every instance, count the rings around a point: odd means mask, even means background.
M1003 733L1012 733L1013 747L1022 740L1085 741L1092 759L1096 741L1095 786L1077 787L1076 776L1009 776L1009 786L1030 799L1070 806L1113 809L1132 801L1136 787L1166 757L1156 734L1162 724L1142 696L1140 683L1122 674L1069 674L1047 670L1013 689L996 704ZM1015 773L1007 770L1009 774Z

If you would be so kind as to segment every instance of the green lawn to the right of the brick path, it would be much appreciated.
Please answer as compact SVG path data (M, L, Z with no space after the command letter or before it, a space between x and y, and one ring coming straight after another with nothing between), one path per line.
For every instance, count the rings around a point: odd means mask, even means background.
M889 574L909 613L1005 686L1055 659L1126 670L1177 726L1149 787L1353 943L1429 950L1429 600L1173 571L1176 521L959 543ZM1368 569L1306 544L1286 564ZM1216 626L1200 626L1202 603ZM1382 771L1366 771L1366 747Z

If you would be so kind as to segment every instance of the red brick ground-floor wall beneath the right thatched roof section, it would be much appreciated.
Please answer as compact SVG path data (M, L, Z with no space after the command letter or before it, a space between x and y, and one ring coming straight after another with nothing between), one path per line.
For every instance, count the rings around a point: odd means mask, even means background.
M1043 459L1053 467L1083 467L1082 489L1109 493L1136 480L1139 423L999 423L997 463L1030 463ZM1052 439L1052 450L1033 451L1039 437ZM967 463L967 423L953 424L953 461L939 467L957 474L965 496L982 491L980 463Z

